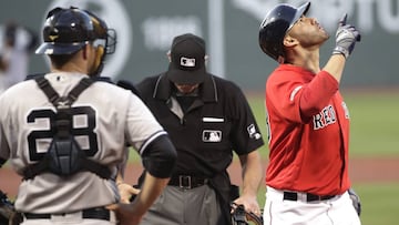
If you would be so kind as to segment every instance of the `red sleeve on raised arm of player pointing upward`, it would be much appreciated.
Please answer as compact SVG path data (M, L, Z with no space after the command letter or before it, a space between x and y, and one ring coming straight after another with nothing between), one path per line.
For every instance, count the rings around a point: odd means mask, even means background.
M294 123L307 123L337 90L338 82L326 71L306 75L298 75L297 71L275 71L266 84L268 114L278 114Z

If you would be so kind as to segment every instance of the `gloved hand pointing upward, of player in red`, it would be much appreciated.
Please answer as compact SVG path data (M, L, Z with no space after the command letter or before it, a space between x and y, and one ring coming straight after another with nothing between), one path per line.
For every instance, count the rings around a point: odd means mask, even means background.
M345 13L339 20L336 32L336 47L332 54L342 54L346 59L355 49L355 43L360 41L360 32L351 24L347 24L348 14Z

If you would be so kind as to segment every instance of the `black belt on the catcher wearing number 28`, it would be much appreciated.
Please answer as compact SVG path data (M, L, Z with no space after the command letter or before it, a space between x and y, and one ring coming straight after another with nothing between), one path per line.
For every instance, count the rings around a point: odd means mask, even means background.
M66 214L66 213L65 213ZM35 214L35 213L22 213L27 219L50 219L51 215L62 216L65 214ZM110 221L111 213L104 207L92 207L82 209L82 218L94 218L102 221Z

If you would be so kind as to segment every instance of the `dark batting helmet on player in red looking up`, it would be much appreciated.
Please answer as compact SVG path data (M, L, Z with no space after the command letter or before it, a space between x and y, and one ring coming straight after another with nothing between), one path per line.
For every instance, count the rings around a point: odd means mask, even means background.
M310 2L306 2L298 8L282 3L272 9L260 23L260 49L276 61L278 61L279 57L285 58L284 37L293 28L294 23L303 14L306 14L309 8Z

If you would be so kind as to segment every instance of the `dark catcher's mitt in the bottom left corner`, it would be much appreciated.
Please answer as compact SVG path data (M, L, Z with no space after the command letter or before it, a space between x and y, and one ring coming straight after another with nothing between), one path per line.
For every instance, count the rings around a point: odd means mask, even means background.
M22 223L22 216L17 213L13 203L9 200L7 194L0 191L0 224L1 225L17 225Z

